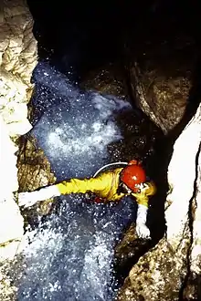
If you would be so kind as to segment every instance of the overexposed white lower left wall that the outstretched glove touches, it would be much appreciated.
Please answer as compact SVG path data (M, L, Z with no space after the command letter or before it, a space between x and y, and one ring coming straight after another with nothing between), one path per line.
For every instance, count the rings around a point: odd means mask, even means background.
M16 170L16 147L14 142L10 140L5 122L0 116L0 245L13 239L20 238L23 235L23 217L19 212L19 208L15 202L12 192L18 188L17 170ZM0 254L1 256L1 254Z

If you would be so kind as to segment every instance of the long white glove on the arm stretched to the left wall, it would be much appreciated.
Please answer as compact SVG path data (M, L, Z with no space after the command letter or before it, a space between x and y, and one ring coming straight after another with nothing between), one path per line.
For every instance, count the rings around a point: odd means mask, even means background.
M18 205L27 208L33 206L36 202L44 201L56 196L60 196L60 192L56 185L41 188L36 192L19 192Z

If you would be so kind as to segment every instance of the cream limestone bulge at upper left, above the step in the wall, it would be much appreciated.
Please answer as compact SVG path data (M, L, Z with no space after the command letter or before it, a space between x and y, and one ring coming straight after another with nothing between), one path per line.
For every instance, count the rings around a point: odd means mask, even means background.
M26 103L37 64L37 41L33 20L25 1L2 1L0 16L0 113L12 137L31 129Z

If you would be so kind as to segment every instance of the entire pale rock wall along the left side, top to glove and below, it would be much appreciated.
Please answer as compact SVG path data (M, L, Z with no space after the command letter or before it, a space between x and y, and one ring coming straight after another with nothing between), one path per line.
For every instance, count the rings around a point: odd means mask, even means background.
M27 119L30 78L37 64L37 41L25 1L0 4L0 259L16 254L24 220L16 204L17 139L31 129Z

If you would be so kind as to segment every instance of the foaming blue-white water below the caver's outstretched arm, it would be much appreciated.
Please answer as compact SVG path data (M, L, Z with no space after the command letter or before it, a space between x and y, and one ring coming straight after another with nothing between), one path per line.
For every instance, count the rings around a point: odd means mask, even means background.
M25 236L17 300L112 300L114 245L133 219L134 202L97 205L79 196L59 202L60 212Z

